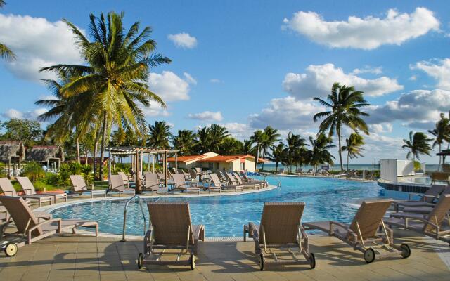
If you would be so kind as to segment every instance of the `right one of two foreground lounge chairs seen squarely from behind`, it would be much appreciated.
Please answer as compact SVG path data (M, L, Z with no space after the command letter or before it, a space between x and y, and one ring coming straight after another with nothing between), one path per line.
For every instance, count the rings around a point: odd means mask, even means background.
M300 220L304 210L304 202L264 203L261 224L248 223L244 226L252 233L255 241L255 252L259 256L259 268L264 270L271 265L308 264L316 267L314 254L309 253L308 236L304 232ZM271 248L276 248L273 251ZM295 252L292 248L297 248ZM278 249L287 249L278 251ZM306 261L297 255L302 254ZM269 257L271 259L269 259Z

